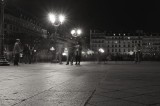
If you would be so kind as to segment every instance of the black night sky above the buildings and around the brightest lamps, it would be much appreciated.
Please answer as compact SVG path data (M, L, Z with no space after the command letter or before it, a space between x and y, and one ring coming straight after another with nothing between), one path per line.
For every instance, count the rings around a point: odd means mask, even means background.
M106 31L160 32L159 0L8 0L47 22L51 11L66 14L68 24Z

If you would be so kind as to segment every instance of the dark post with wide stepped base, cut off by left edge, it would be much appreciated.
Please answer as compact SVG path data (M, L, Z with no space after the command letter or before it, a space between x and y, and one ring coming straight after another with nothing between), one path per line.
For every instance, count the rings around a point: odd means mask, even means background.
M9 63L4 57L4 0L0 0L0 66L8 66Z

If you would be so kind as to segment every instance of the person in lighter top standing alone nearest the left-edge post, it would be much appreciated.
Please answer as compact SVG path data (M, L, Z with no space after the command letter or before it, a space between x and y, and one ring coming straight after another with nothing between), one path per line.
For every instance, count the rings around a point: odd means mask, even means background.
M20 52L21 52L20 39L16 39L16 42L15 42L14 48L13 48L13 53L14 53L14 65L17 65L17 66L18 66Z

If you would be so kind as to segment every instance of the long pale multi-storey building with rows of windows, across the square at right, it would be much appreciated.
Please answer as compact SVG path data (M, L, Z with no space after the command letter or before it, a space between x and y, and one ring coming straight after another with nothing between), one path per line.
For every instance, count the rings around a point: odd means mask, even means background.
M111 55L133 55L141 51L143 56L159 56L160 34L90 31L90 49L97 52L100 48Z

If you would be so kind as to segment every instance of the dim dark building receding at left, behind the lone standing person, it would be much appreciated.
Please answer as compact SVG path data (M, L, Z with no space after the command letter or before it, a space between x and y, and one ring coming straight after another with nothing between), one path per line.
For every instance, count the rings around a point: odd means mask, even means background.
M47 30L36 18L29 16L20 9L5 8L4 12L4 43L7 51L12 51L15 39L23 44L35 45L40 39L47 37Z

